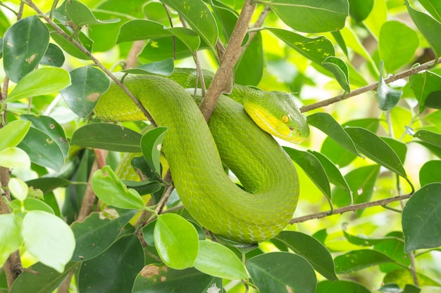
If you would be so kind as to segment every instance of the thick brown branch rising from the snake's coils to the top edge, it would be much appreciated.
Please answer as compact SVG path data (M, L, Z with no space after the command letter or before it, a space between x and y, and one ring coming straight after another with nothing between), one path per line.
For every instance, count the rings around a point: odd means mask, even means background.
M230 80L230 74L232 74L232 70L237 63L237 60L240 58L242 41L244 40L245 34L247 34L251 16L257 5L251 5L250 3L251 0L246 0L244 2L242 13L240 13L239 18L237 19L230 41L228 41L227 48L225 48L221 64L219 65L216 74L214 74L213 81L211 82L209 89L206 91L206 95L202 98L201 103L199 104L199 108L201 108L201 112L206 121L209 121L214 106L225 89L225 86L227 86L227 82Z

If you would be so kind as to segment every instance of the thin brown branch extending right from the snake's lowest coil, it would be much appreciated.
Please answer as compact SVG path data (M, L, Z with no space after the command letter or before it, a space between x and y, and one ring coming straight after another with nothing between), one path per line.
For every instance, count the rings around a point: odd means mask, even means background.
M351 205L348 205L347 207L340 207L339 209L334 209L333 214L331 214L331 211L322 211L321 213L317 213L317 214L309 214L306 216L299 216L298 218L291 219L290 224L302 223L302 222L306 222L306 221L309 221L312 219L321 219L321 218L324 218L325 216L332 216L335 214L343 214L343 213L346 213L347 211L356 211L359 209L366 209L368 207L385 206L386 204L390 204L391 202L397 202L399 200L407 200L411 196L412 196L411 193L409 193L408 195L389 197L389 198L385 198L384 200L376 200L374 202L364 202L362 204L351 204Z

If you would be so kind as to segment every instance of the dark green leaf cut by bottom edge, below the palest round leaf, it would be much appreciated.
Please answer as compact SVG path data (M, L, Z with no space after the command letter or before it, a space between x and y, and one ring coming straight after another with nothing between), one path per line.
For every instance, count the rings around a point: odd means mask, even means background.
M71 271L74 271L79 263L70 261L65 266L65 271L59 273L43 263L35 263L29 267L29 270L20 273L18 278L13 282L11 293L48 293L53 292ZM35 272L38 272L36 274Z

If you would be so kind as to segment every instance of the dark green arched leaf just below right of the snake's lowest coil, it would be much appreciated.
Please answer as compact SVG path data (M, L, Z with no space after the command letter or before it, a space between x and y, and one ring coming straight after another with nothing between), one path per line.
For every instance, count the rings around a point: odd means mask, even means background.
M323 277L337 280L333 257L316 238L297 231L282 231L274 239L280 240L293 252L303 256Z

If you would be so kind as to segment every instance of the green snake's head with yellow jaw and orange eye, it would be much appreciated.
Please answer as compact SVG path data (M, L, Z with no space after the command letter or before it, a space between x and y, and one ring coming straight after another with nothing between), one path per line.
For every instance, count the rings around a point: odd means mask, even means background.
M301 143L309 136L306 117L289 93L257 91L244 100L244 109L263 131L284 141Z

